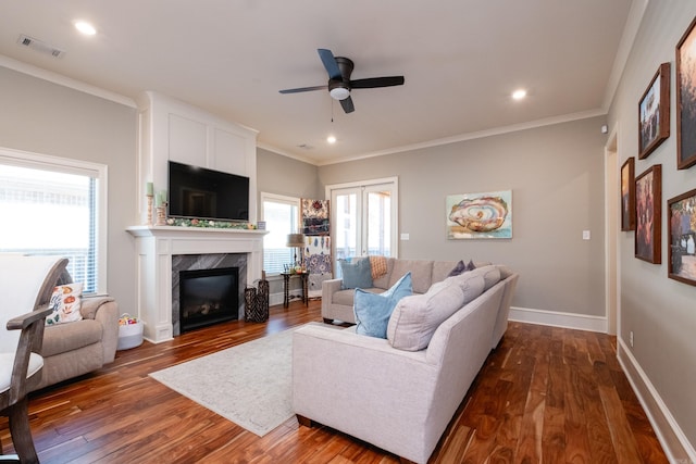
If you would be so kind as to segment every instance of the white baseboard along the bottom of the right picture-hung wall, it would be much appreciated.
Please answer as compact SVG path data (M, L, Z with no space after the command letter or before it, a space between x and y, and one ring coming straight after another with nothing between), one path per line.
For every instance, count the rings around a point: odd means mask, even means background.
M643 405L670 463L694 464L696 451L672 416L629 347L618 338L617 358Z

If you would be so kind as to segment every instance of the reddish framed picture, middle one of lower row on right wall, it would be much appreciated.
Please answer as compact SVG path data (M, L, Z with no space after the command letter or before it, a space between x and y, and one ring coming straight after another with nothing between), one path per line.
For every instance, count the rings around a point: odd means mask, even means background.
M662 262L662 165L635 178L635 258Z

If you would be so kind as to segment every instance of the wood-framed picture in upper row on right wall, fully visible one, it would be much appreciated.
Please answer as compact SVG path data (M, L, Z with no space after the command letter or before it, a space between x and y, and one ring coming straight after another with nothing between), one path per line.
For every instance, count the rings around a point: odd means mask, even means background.
M638 102L638 159L670 136L670 63L662 63Z

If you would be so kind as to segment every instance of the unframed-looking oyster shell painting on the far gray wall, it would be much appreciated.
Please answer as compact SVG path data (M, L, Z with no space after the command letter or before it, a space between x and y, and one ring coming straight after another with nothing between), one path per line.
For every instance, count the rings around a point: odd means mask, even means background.
M512 238L512 190L450 195L446 199L447 238Z

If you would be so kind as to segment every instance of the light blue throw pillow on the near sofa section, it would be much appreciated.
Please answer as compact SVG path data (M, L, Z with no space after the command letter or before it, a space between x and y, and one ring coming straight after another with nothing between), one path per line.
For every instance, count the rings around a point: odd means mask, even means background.
M352 305L358 324L356 333L370 337L387 338L387 325L396 303L410 294L413 294L410 272L384 293L371 293L357 288Z

